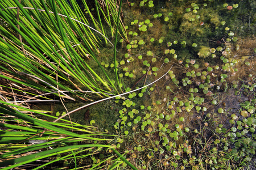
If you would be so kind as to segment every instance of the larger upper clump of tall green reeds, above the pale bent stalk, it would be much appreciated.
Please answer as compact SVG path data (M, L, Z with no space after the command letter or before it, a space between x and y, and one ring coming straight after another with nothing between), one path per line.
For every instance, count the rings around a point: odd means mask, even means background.
M100 92L98 96L117 91L94 53L99 53L102 40L113 46L106 37L106 27L95 18L100 19L103 14L110 29L115 30L118 8L113 1L106 1L108 10L104 11L96 1L100 10L93 16L86 2L82 2L86 16L76 1L1 3L0 79L5 82L1 86L8 80L32 88L36 94L58 91L55 95L69 99L72 97L61 91L82 98L84 94L74 90ZM121 30L125 33L124 28ZM104 77L88 65L88 59L98 63Z

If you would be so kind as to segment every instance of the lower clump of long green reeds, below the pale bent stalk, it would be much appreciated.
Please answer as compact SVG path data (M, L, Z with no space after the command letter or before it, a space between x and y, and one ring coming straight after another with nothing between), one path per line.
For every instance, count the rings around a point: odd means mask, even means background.
M0 167L12 169L22 166L40 169L65 160L70 164L70 168L77 168L78 160L88 160L90 156L111 149L114 155L105 154L100 163L89 164L89 167L93 169L104 166L109 160L114 166L121 159L136 169L114 149L115 146L108 145L113 135L94 132L92 129L95 127L67 120L57 123L35 118L39 114L56 118L0 101ZM40 162L37 162L38 160Z

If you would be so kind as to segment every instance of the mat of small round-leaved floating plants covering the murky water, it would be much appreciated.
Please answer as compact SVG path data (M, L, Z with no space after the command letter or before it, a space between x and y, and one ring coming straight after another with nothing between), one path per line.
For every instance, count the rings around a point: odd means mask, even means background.
M97 128L114 133L109 143L139 169L245 166L255 158L255 49L248 45L252 41L238 36L240 26L235 28L226 17L241 6L213 1L126 3L126 10L132 11L123 11L129 41L123 37L117 42L115 37L114 61L108 47L97 56L109 75L109 87L111 82L125 93L61 111L57 120L90 106L85 124L96 122ZM11 91L7 86L5 81L2 87ZM102 124L100 115L105 118ZM92 168L103 163L105 154L92 155ZM120 159L105 163L110 169L127 169L129 162Z

